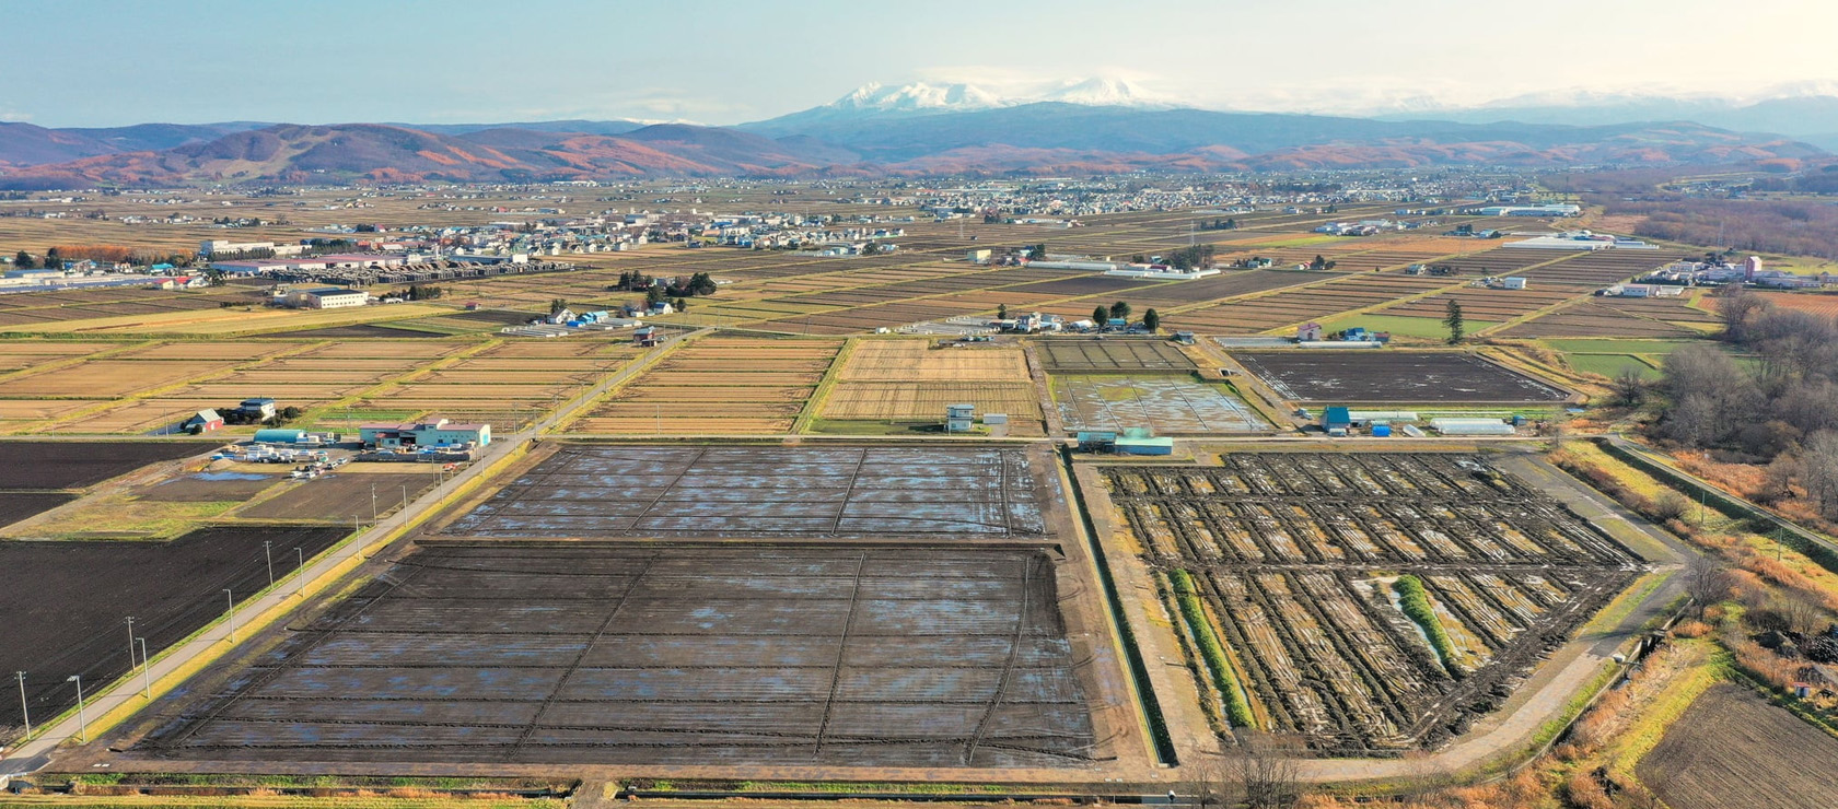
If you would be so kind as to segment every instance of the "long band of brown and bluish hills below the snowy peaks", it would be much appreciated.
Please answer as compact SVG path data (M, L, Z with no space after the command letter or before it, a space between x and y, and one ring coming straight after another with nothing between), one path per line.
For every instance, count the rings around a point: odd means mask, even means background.
M1084 118L1066 121L1004 118L1007 129L983 132L956 129L930 134L928 131L875 132L879 140L858 134L858 140L871 142L862 147L836 145L809 134L768 138L743 129L689 125L652 125L621 134L520 127L439 134L399 125L347 123L276 125L164 151L108 153L108 145L85 143L68 132L6 125L13 129L0 131L0 147L6 147L0 154L18 154L26 162L62 153L83 156L46 165L0 164L0 188L1101 175L1463 164L1518 167L1798 164L1829 158L1816 147L1787 138L1737 134L1695 123L1594 129L1426 125L1419 127L1419 132L1399 134L1399 125L1375 121L1208 114L1187 121L1186 131L1118 136L1121 140L1097 129L1066 134L1064 127L1051 125L1103 123L1118 132L1138 132L1125 127L1132 120L1129 112L1105 118L1079 114ZM965 120L980 121L974 116ZM1180 121L1184 118L1171 120L1171 123ZM1200 127L1220 121L1241 129L1219 129L1208 134ZM1320 129L1309 129L1318 121L1329 121L1344 132L1323 138ZM937 125L939 121L926 123L932 129ZM1261 129L1242 129L1252 125Z

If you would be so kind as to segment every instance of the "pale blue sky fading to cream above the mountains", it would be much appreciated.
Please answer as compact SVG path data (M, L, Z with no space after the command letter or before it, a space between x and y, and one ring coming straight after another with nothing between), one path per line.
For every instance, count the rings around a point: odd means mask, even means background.
M737 123L880 81L1092 75L1209 108L1838 92L1809 0L0 0L0 120Z

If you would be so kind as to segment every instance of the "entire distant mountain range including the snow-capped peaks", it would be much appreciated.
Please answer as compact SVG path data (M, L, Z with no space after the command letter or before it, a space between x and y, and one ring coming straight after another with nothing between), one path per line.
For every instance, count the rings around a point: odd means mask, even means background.
M1823 105L1823 107L1821 107ZM1639 110L1639 107L1627 107ZM1031 97L970 85L868 85L829 105L739 127L643 121L474 125L0 123L0 188L147 188L199 182L533 182L651 177L1092 175L1417 165L1827 164L1831 153L1766 134L1838 97L1728 108L1726 127L1645 121L1524 123L1213 112L1114 79ZM1649 107L1649 112L1673 112ZM1505 112L1505 110L1494 110ZM1557 112L1526 107L1522 118ZM1717 112L1717 110L1700 110ZM1606 110L1597 114L1614 118ZM1776 116L1776 118L1768 118ZM1450 112L1447 118L1485 118ZM1652 121L1663 123L1652 123ZM1816 118L1812 118L1816 121Z

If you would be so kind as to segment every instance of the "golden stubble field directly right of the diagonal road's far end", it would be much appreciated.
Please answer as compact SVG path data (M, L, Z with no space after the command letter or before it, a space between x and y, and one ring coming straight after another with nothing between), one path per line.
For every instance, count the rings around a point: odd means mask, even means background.
M790 432L842 340L708 336L575 419L581 434ZM787 370L790 368L790 370Z

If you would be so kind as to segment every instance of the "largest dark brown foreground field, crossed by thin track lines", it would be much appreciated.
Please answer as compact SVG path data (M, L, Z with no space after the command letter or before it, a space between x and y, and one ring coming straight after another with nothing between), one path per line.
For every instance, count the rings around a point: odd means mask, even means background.
M432 544L136 754L1081 767L1029 550Z

